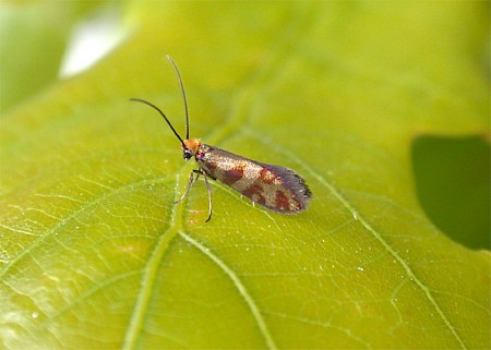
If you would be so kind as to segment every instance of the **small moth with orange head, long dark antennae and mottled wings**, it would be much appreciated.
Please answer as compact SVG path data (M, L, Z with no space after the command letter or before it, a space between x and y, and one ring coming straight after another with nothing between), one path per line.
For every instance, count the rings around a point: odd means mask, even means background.
M189 138L189 116L184 85L177 64L170 56L167 56L167 59L172 64L181 87L185 112L185 138L182 140L158 107L140 98L131 98L131 100L148 105L158 111L180 141L184 160L194 157L197 164L197 169L190 173L184 194L175 204L182 202L199 177L203 176L208 194L208 217L206 222L212 218L213 209L212 190L208 178L221 181L240 194L249 197L253 204L258 203L279 214L291 215L307 209L309 201L312 198L312 193L307 186L306 181L294 170L251 160L218 147L204 144L199 138Z

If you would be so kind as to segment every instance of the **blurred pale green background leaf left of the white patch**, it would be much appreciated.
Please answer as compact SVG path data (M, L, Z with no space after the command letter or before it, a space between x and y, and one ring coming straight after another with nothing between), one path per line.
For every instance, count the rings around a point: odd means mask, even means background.
M70 29L91 2L0 3L0 111L58 79Z

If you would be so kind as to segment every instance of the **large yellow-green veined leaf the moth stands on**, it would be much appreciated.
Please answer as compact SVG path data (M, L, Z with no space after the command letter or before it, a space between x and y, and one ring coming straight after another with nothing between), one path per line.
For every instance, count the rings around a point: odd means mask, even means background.
M435 228L411 158L421 135L489 136L488 3L124 11L110 56L2 114L1 348L491 346L489 251ZM295 169L307 212L214 181L209 222L203 181L172 204L196 166L129 101L184 133L166 53L191 137Z

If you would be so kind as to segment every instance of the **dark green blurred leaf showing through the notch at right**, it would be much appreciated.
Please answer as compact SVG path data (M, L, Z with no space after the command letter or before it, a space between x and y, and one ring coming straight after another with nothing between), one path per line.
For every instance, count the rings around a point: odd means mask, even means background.
M421 136L412 146L418 196L432 221L472 249L490 249L491 149L481 137Z

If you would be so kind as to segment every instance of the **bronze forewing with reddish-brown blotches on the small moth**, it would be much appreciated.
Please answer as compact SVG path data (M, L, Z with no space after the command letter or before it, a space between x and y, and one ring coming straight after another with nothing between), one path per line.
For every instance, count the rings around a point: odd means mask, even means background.
M304 210L312 193L295 171L238 156L209 145L196 157L201 168L252 202L282 214Z

